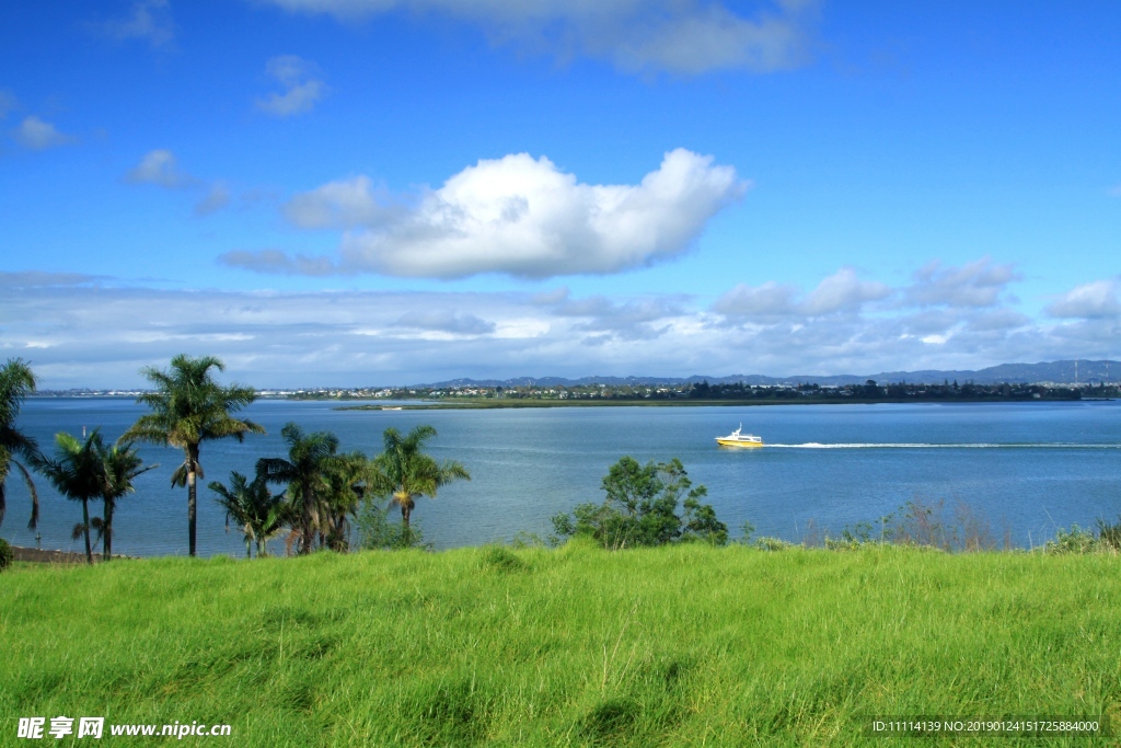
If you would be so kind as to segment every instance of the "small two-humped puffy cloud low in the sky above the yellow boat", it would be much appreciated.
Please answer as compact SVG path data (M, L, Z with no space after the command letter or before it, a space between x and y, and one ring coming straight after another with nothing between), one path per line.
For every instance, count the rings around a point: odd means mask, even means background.
M891 289L877 281L861 280L852 268L841 268L816 288L798 298L794 286L768 281L761 286L739 284L713 304L713 311L730 316L775 318L821 316L859 312L864 304L887 298Z

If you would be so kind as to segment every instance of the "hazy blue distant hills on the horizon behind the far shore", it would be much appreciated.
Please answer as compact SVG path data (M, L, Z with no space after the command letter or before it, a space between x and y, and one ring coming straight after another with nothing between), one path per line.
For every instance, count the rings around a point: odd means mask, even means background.
M417 385L417 387L580 387L586 385L686 385L698 381L708 384L726 384L742 381L747 385L856 385L869 379L878 382L908 381L915 384L941 384L943 381L973 381L979 385L1038 384L1054 382L1060 385L1115 382L1121 379L1121 361L1043 361L1039 363L1001 363L988 369L923 371L881 371L870 375L833 375L767 377L763 375L731 375L728 377L581 377L565 379L564 377L515 377L512 379L450 379L446 381Z

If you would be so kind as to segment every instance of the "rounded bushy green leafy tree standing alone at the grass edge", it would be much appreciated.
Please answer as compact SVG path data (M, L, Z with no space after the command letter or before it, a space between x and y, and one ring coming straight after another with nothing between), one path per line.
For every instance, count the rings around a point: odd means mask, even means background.
M562 512L553 517L558 536L585 535L612 550L692 541L728 543L728 526L716 519L712 506L701 504L707 489L693 487L677 458L642 465L624 456L611 465L602 487L606 495L603 504L581 504L571 516ZM678 516L683 496L685 514Z

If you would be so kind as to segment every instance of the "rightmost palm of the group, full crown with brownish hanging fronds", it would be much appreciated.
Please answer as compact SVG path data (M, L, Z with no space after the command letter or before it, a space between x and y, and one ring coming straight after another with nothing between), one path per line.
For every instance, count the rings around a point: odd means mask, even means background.
M387 428L382 434L386 451L373 461L377 470L372 481L374 491L388 496L392 504L401 508L406 530L418 497L436 498L436 489L456 478L471 480L470 473L458 462L447 460L437 463L424 453L425 442L435 435L436 430L428 425L417 426L404 438L396 428Z

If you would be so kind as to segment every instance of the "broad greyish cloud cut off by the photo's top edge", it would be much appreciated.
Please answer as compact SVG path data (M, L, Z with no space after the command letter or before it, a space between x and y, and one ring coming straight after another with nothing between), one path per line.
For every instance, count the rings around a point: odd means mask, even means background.
M809 59L816 2L757 2L744 13L706 0L266 0L289 11L359 20L389 11L474 24L494 44L560 59L605 59L627 72L700 74L790 70Z

